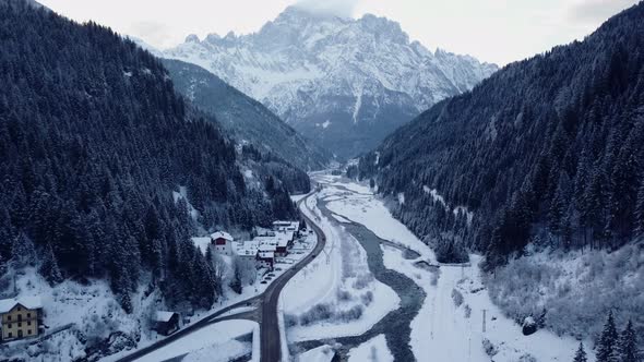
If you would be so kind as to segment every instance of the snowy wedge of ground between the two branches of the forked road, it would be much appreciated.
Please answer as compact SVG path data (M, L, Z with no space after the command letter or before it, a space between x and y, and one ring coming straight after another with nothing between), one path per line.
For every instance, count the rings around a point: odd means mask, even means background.
M188 336L165 346L138 362L158 362L186 355L182 361L225 362L249 354L252 351L253 336L259 335L255 322L235 319L224 321L195 330ZM242 338L240 338L242 337ZM240 341L238 339L243 339ZM253 355L253 358L259 358Z

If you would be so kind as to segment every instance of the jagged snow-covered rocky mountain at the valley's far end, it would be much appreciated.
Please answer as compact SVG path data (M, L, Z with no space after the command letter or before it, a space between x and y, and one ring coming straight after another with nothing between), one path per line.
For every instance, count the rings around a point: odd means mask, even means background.
M384 17L342 19L297 7L258 33L190 35L163 57L205 68L339 157L370 149L498 69L410 43Z

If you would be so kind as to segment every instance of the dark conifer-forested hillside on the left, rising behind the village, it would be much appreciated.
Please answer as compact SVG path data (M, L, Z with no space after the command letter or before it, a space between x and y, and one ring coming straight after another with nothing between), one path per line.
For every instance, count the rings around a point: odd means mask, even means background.
M195 226L295 215L286 185L247 185L234 142L110 29L0 1L0 48L2 267L107 278L126 311L143 277L169 304L208 307L219 286ZM172 198L181 188L198 213Z

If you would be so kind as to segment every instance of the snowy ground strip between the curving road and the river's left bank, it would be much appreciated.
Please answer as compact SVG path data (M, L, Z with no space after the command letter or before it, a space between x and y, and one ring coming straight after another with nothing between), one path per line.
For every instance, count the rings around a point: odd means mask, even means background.
M287 319L288 342L310 339L360 335L371 328L390 311L399 305L396 293L373 279L367 266L367 253L345 232L339 224L322 217L315 208L315 197L307 200L305 212L327 236L324 251L299 272L282 291L279 301ZM313 212L311 212L311 209ZM326 305L342 313L362 311L358 318L327 318L302 325L289 321L311 315L317 305Z

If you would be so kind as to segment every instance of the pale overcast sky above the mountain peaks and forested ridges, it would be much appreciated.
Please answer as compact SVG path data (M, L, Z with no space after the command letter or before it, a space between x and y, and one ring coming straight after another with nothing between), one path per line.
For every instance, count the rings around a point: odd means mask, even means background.
M257 32L297 0L39 0L76 21L94 20L157 48L187 35ZM299 0L343 16L401 23L413 40L500 65L581 39L637 0ZM323 4L323 5L320 5Z

